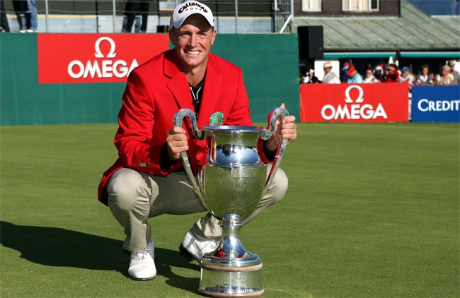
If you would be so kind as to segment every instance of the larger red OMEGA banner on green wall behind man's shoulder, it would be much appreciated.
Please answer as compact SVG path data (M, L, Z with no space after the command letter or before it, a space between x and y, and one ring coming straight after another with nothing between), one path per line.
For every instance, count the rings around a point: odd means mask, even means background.
M126 82L169 49L166 34L38 34L38 83Z

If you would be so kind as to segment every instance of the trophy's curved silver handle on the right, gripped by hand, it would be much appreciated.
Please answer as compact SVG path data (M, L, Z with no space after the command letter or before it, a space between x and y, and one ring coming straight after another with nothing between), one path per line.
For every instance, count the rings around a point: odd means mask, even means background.
M272 112L268 114L268 129L264 129L260 134L260 138L264 141L267 141L273 135L273 131L275 131L275 124L278 117L282 116L283 118L289 116L289 112L287 109L283 109L282 107L277 107L276 109L272 109ZM280 162L282 160L282 156L284 155L284 150L287 146L287 138L283 138L280 143L278 144L278 148L275 153L275 160L273 160L272 168L270 169L270 173L268 174L267 181L265 181L265 189L263 190L263 196L268 190L268 186L272 184L273 177L275 177L276 171L278 167L280 167Z

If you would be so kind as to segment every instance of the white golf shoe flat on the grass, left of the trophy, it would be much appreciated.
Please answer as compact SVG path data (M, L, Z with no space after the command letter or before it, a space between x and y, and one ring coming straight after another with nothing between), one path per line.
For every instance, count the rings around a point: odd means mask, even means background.
M149 244L139 251L131 253L130 268L128 274L134 280L153 280L156 278L155 267L155 244L150 240Z

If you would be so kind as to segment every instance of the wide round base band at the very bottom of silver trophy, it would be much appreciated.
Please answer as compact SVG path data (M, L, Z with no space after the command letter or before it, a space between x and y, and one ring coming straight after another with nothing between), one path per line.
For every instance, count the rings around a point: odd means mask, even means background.
M243 267L201 264L198 292L209 297L260 297L262 263Z

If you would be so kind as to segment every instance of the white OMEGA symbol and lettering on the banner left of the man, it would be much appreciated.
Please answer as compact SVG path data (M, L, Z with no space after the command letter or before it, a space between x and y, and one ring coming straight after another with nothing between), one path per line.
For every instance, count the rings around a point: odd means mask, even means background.
M102 42L108 42L110 44L110 50L108 54L104 55L100 49ZM125 60L115 60L117 56L116 45L113 39L104 36L98 38L94 43L94 56L95 60L91 61L88 59L86 64L83 61L74 60L67 66L67 73L71 78L125 78L130 72L139 66L136 59L132 59L131 65L128 67L128 63Z

